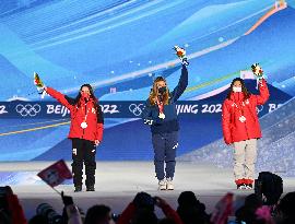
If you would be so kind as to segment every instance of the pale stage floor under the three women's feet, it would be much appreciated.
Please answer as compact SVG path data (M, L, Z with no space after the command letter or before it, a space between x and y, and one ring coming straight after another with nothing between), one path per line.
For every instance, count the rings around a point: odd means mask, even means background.
M0 164L1 186L11 185L19 196L27 217L35 214L39 203L48 202L57 211L61 211L60 196L36 177L43 168L52 162L17 162ZM70 163L68 163L70 167ZM280 174L279 174L280 175ZM295 190L295 178L286 177L284 193ZM236 205L253 192L252 190L236 190L233 181L233 169L217 168L208 164L178 162L174 179L175 190L158 191L153 162L98 162L96 168L95 192L73 192L73 185L58 186L58 191L73 196L74 202L84 211L93 204L105 203L115 213L120 213L133 199L137 192L146 191L152 196L166 199L175 209L181 191L191 190L206 205L210 213L214 204L226 192L234 192ZM161 212L157 211L160 214Z

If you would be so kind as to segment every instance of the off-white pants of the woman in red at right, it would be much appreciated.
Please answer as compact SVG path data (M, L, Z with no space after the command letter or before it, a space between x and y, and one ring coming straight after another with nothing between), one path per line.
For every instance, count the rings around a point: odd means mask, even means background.
M238 179L255 179L257 139L234 143L234 176Z

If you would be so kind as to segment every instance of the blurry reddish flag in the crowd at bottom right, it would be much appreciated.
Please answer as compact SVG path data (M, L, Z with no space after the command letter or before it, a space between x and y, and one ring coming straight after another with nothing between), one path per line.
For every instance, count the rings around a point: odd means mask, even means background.
M215 205L210 221L214 224L226 224L227 217L233 213L233 193L226 193Z

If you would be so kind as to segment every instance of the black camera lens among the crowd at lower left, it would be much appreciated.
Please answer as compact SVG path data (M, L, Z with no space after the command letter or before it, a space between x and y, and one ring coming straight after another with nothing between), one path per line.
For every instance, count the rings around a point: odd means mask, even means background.
M36 213L48 219L49 224L62 224L63 220L54 208L48 203L42 203L37 207Z

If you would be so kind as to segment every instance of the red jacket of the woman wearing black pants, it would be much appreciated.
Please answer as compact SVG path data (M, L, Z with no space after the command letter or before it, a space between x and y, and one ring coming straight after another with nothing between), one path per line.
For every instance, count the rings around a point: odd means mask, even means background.
M78 104L71 104L71 102L69 102L69 97L66 97L63 94L51 87L47 87L46 92L70 110L71 128L68 135L69 139L78 138L90 141L102 141L104 131L103 114L99 106L98 111L96 111L95 104L92 98L88 102L85 102L81 97L81 106L78 107ZM87 127L83 129L81 123L85 118Z

